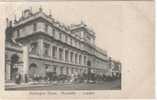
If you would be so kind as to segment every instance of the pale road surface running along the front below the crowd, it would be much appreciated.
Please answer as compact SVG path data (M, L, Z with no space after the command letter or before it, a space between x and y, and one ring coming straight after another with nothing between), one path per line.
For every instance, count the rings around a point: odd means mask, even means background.
M47 84L26 87L6 87L6 90L120 90L121 80L105 81L101 83L76 83L76 84Z

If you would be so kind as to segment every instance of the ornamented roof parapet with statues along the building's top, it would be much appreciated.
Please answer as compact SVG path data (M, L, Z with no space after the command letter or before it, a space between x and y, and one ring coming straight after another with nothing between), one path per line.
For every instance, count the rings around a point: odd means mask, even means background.
M17 27L21 24L24 24L28 21L34 20L39 17L46 19L48 22L52 23L57 28L65 31L65 32L68 32L68 33L71 33L71 31L79 29L79 28L84 28L91 35L95 34L95 32L93 30L87 28L87 25L84 24L83 22L81 22L80 24L65 25L65 24L57 21L56 19L52 18L51 14L48 15L48 14L44 13L41 8L39 9L39 11L37 11L35 13L33 13L31 11L31 9L24 10L24 12L22 12L22 16L18 20L16 19L16 21L14 22L13 27Z

